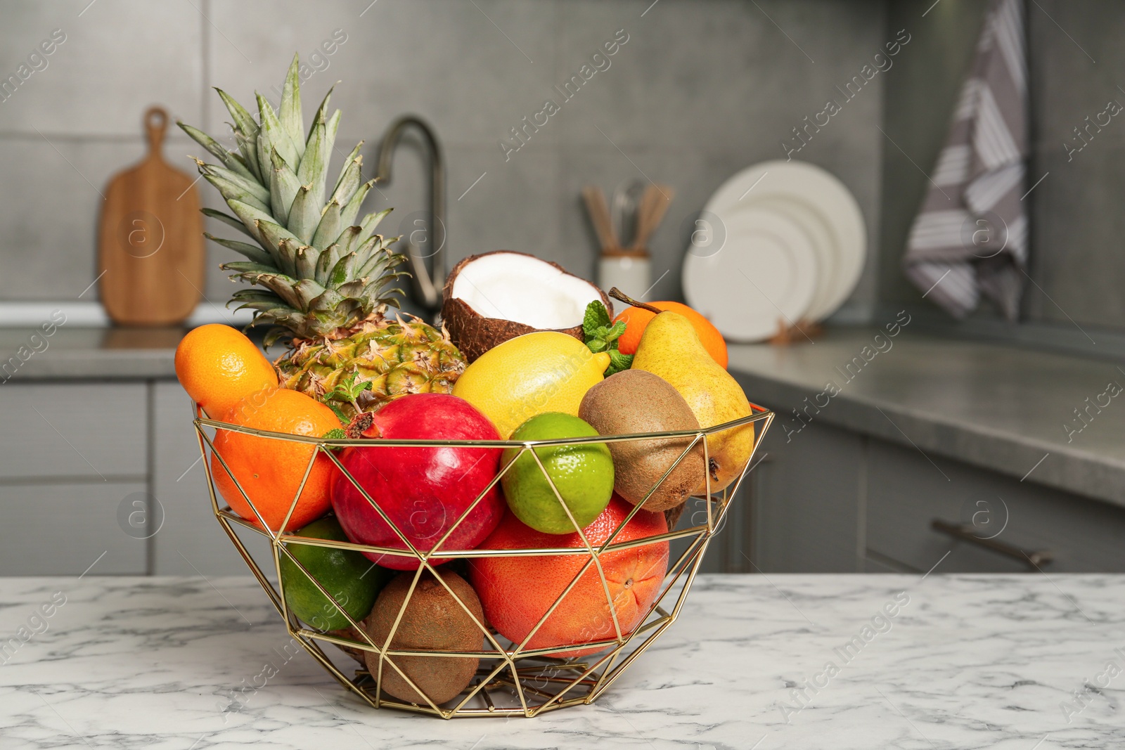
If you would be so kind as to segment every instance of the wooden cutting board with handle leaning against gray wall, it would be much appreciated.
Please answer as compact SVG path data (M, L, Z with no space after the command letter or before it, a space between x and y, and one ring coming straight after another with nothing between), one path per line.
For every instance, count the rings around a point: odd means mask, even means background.
M199 195L192 178L161 155L168 112L144 115L148 154L106 188L98 231L98 289L119 325L182 323L202 297Z

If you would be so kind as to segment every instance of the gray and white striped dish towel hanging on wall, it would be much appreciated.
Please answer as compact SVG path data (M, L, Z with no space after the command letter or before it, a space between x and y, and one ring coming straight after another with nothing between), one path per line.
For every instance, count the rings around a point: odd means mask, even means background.
M1019 314L1027 264L1027 56L1023 0L990 0L972 71L907 241L915 286L964 317L983 293Z

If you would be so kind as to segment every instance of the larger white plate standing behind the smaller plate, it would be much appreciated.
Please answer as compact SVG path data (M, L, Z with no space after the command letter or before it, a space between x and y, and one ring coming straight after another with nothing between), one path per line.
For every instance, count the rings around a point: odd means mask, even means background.
M813 238L821 283L806 316L821 320L850 296L863 272L867 232L852 192L831 173L807 162L762 162L727 180L704 207L721 219L736 206L774 207ZM724 219L723 219L724 220Z

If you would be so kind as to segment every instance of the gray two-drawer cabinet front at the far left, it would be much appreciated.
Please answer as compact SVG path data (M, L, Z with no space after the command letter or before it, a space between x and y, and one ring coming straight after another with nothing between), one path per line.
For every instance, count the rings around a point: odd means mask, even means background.
M144 383L0 388L0 575L147 572Z

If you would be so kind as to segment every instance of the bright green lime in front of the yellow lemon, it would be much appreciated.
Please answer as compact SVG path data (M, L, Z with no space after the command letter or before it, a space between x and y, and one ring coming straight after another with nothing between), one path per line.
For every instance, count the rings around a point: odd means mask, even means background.
M597 431L583 419L560 412L539 414L515 428L510 440L594 437ZM523 449L505 449L502 467L513 460L501 485L512 513L544 534L574 533L574 522L559 504L536 459ZM551 445L533 449L579 528L596 518L613 496L613 458L605 443ZM516 458L519 457L519 458Z

